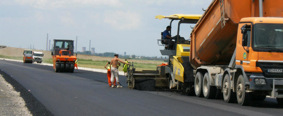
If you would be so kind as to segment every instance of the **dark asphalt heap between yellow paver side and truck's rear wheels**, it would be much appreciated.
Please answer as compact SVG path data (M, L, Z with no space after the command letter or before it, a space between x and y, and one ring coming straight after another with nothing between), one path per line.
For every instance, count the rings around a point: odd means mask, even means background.
M194 82L194 71L190 62L184 62L182 65L184 67L184 82Z

